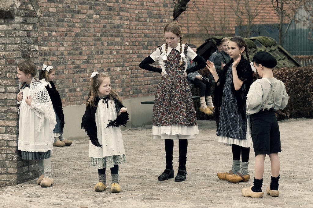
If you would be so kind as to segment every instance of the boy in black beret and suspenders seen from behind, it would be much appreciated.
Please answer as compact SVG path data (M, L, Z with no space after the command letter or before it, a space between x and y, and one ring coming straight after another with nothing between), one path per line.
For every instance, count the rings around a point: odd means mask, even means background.
M262 198L262 184L265 156L269 155L272 167L272 181L266 188L270 196L279 196L278 180L280 178L280 131L274 111L284 109L288 103L285 84L274 78L273 68L277 61L265 51L254 54L250 63L262 79L256 80L247 94L247 115L251 115L251 136L255 153L253 186L242 189L242 196Z

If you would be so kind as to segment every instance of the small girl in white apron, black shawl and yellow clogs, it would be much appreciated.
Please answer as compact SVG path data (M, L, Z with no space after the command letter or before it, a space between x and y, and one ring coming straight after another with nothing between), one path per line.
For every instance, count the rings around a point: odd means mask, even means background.
M85 129L89 143L91 166L98 168L99 182L95 191L104 191L105 169L111 170L111 192L120 192L118 184L119 164L126 162L120 126L129 120L127 109L118 95L111 90L110 77L94 72L81 127Z

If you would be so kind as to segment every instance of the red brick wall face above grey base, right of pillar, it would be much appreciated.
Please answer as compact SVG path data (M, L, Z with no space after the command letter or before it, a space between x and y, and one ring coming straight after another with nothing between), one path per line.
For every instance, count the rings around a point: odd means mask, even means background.
M63 105L85 104L94 70L108 72L122 99L154 95L159 76L138 66L164 41L172 1L62 2L39 1L38 45L40 65L57 70Z

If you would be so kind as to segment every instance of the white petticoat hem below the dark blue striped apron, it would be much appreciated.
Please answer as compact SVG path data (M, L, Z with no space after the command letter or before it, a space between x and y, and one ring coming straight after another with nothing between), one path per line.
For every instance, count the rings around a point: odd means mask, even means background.
M230 138L230 137L218 136L218 142L222 142L226 146L232 146L232 144L237 144L241 147L246 147L246 148L253 147L253 142L252 142L252 137L251 137L251 132L250 132L249 116L247 119L246 139L234 139L234 138Z

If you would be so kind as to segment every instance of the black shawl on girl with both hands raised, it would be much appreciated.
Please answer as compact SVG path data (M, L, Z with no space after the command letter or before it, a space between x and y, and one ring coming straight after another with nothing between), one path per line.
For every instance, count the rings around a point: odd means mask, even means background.
M214 89L214 106L215 106L215 119L216 119L216 125L218 127L219 124L219 108L222 106L223 103L223 88L226 82L226 74L227 70L230 65L233 63L233 59L230 60L223 68L222 70L222 75L218 79L218 81L215 83L215 89ZM238 78L244 83L242 84L241 88L239 90L235 90L235 86L232 81L232 91L235 97L237 98L238 101L238 110L242 116L242 118L245 120L246 119L246 109L244 107L244 104L247 99L247 94L250 88L250 85L253 82L253 77L252 77L252 69L250 66L250 63L244 59L244 56L241 55L241 60L239 64L236 67L237 69L237 75Z

